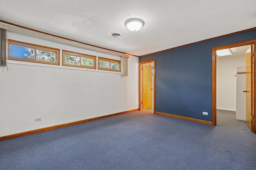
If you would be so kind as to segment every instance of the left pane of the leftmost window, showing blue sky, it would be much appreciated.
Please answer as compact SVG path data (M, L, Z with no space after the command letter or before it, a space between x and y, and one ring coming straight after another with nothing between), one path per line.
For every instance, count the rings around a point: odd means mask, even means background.
M34 59L34 49L11 45L10 56Z

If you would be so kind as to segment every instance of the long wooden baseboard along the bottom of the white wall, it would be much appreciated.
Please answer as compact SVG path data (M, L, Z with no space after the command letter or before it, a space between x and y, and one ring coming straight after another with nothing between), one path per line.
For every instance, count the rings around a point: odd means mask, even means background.
M79 124L79 123L85 123L85 122L88 122L88 121L94 121L94 120L98 120L98 119L103 119L103 118L106 118L106 117L121 115L121 114L124 114L124 113L130 113L130 112L138 111L138 110L139 110L139 109L133 109L133 110L128 110L128 111L122 111L122 112L114 113L114 114L110 114L110 115L104 115L104 116L100 116L100 117L93 117L93 118L90 118L90 119L84 119L84 120L80 120L80 121L74 121L74 122L65 123L65 124L62 124L62 125L55 125L55 126L44 127L44 128L36 129L36 130L32 130L32 131L26 131L26 132L22 132L22 133L16 133L16 134L13 134L13 135L7 135L7 136L0 137L0 141L6 140L6 139L11 139L11 138L14 138L14 137L20 137L20 136L30 135L30 134L33 134L33 133L39 133L39 132L49 131L49 130L57 129L57 128L60 128L60 127L65 127L65 126L70 126L70 125L76 125L76 124Z

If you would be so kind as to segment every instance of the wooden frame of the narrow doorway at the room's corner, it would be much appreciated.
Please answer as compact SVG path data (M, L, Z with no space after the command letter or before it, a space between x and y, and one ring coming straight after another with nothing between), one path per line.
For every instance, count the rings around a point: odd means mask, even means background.
M153 101L154 101L154 104L153 104L153 107L154 107L154 113L155 113L155 103L156 103L156 100L155 100L155 94L156 94L156 74L155 74L155 69L156 69L156 62L155 60L149 60L149 61L143 61L143 62L140 62L139 63L139 110L142 110L142 107L141 107L141 102L142 102L142 64L147 64L147 63L154 63L154 89L153 89Z

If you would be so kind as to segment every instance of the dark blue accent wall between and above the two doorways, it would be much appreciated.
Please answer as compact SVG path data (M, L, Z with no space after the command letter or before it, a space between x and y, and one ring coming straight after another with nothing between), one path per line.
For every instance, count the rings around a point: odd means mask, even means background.
M212 121L212 48L253 39L256 29L140 57L156 60L155 111Z

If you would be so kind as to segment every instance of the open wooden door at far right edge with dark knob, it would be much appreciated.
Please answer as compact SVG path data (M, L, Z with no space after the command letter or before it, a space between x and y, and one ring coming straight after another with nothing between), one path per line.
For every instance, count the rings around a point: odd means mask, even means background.
M253 85L252 85L252 59L251 53L253 51L253 45L251 45L247 51L245 56L245 65L246 65L246 125L249 127L251 131L253 131L253 120L252 120L252 102L253 102Z

